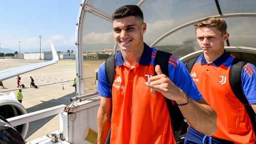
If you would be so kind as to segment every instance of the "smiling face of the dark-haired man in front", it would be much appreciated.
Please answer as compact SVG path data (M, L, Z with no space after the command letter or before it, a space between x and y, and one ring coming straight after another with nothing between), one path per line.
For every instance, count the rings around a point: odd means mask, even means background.
M125 52L144 48L143 34L146 31L146 24L143 20L128 16L113 21L113 33L116 43Z

